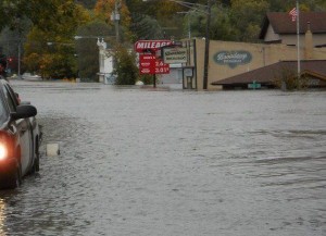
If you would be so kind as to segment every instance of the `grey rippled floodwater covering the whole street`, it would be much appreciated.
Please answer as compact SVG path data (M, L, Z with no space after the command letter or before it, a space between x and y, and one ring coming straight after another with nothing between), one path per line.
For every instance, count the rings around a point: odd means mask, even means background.
M1 236L326 235L325 91L12 84L45 134Z

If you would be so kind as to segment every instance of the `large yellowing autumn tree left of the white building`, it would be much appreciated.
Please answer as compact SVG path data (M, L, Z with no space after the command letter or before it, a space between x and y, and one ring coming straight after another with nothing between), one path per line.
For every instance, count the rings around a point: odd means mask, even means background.
M79 25L90 21L88 12L73 0L55 0L55 16L39 22L27 35L23 64L25 71L43 77L72 77L76 74L74 35ZM49 13L50 14L50 13ZM42 27L42 24L47 27Z

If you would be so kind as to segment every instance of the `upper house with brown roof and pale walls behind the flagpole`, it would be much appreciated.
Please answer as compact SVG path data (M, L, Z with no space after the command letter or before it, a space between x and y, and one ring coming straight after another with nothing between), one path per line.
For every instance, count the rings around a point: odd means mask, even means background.
M300 40L308 29L314 35L313 47L326 47L326 12L300 12ZM265 44L297 46L297 22L288 13L269 12L266 14L260 39Z

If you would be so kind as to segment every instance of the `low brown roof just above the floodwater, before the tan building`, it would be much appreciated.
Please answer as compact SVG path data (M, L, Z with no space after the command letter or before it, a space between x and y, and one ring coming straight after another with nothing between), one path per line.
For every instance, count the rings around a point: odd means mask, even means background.
M260 67L243 74L231 76L222 80L213 82L212 85L237 85L256 82L260 84L272 84L273 80L281 76L284 71L297 72L297 61L280 61L264 67ZM326 80L326 60L301 61L302 74L313 74Z

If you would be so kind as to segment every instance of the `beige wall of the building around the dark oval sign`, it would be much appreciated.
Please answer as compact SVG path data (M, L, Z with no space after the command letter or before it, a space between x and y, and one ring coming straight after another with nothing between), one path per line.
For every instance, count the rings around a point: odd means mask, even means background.
M204 39L196 39L196 55L197 55L197 88L203 89L203 59L204 59ZM227 64L217 64L214 60L214 55L221 51L247 51L251 54L252 59L246 64L238 64L234 67ZM300 58L304 58L304 47L301 47ZM195 57L191 53L190 57ZM312 59L326 60L326 49L314 48L312 52ZM246 42L233 42L233 41L210 41L210 60L209 60L209 82L208 89L216 89L216 86L212 86L212 82L221 80L234 75L238 75L248 71L252 71L264 65L269 65L278 61L297 60L297 48L278 45L265 45L265 44L246 44ZM218 88L217 88L218 89Z

